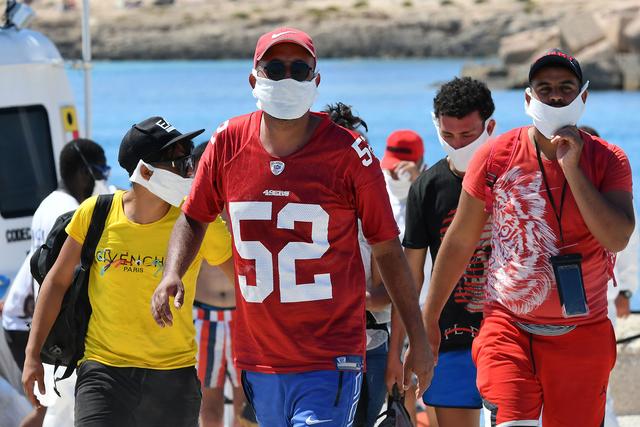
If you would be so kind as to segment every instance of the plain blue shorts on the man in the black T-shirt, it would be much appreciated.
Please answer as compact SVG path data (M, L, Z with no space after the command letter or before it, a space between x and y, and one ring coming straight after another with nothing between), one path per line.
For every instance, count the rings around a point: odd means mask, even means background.
M422 400L425 405L440 408L482 408L470 348L438 355L433 380Z

